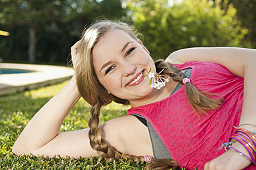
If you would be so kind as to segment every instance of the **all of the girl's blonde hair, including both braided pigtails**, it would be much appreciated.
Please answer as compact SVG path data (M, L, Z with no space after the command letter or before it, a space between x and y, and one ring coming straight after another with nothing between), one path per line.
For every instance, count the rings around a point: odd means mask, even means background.
M144 161L143 156L135 156L129 154L121 154L119 151L113 149L106 144L102 139L102 134L99 125L99 115L102 106L110 104L110 102L115 101L119 104L129 104L128 100L120 99L114 95L108 94L108 91L99 80L94 72L93 68L93 56L92 51L95 45L97 45L102 37L109 32L111 29L121 29L130 35L133 39L138 41L137 35L133 32L133 29L126 23L116 22L116 21L100 21L91 25L82 34L81 42L78 47L78 59L74 65L75 75L77 77L77 86L80 95L91 104L91 118L89 119L89 139L90 144L93 149L97 151L100 156L108 161L119 161L120 159L127 159L133 161ZM184 79L183 73L177 69L174 65L159 60L156 64L157 69L165 69L164 73L170 75L174 81L181 82ZM188 85L187 85L188 84ZM186 93L191 101L191 106L196 112L205 112L205 110L213 110L218 108L221 101L216 101L205 96L193 84L186 84ZM198 96L199 100L194 100L192 96ZM203 103L203 105L202 105ZM174 160L164 160L164 159L152 159L152 164L148 165L147 169L176 169L178 168L178 162Z

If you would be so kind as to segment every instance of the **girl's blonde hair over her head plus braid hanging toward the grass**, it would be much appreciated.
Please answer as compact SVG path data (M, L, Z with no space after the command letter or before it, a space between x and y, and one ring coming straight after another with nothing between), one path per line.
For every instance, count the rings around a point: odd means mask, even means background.
M95 23L82 34L82 39L78 46L78 59L75 62L74 69L80 95L93 106L91 108L91 118L89 119L90 144L100 156L108 161L119 161L123 158L143 162L143 156L121 154L119 151L115 151L113 147L109 147L102 139L102 134L98 128L100 108L102 108L102 106L110 104L111 101L116 101L119 104L129 104L126 99L119 99L114 95L108 94L108 91L100 84L99 80L97 80L94 72L93 47L102 40L102 37L109 32L110 29L121 29L135 40L138 40L132 28L126 23L114 21Z

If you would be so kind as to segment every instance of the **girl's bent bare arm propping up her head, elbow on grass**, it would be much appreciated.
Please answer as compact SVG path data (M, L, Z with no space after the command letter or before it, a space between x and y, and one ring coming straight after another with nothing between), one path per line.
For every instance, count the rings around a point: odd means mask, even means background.
M71 47L72 60L75 62L76 48ZM41 108L27 124L14 143L14 154L35 156L55 155L71 158L99 156L89 143L89 129L59 133L60 126L74 104L80 99L75 76L50 101ZM127 154L152 155L148 129L133 116L125 116L108 121L99 127L109 145ZM136 133L134 133L136 132ZM137 141L135 143L134 141Z

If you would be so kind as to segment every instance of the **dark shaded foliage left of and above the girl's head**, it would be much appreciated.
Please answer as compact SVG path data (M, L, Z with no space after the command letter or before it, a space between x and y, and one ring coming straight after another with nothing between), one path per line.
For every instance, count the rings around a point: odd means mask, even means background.
M70 47L85 25L99 16L119 19L124 15L119 0L0 1L0 29L10 32L8 37L0 36L0 58L27 62L28 47L36 45L37 62L67 63ZM36 32L35 42L29 41L31 29Z

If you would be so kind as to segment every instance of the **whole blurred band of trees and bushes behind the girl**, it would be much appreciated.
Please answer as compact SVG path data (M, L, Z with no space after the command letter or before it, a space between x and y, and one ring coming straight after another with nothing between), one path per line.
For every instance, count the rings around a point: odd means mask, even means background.
M256 47L256 0L1 0L0 59L67 64L99 17L133 25L155 60L186 47Z

